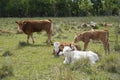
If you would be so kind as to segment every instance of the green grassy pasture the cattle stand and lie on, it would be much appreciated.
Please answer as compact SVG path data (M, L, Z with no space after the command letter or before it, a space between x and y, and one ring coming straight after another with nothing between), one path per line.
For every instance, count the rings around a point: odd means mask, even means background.
M45 32L34 33L35 43L26 43L25 34L16 34L19 20L35 20L48 18L0 18L0 29L11 33L0 33L0 80L119 80L120 51L115 50L116 28L119 17L67 17L51 18L53 21L52 41L72 42L76 33L91 28L81 28L82 23L112 23L111 27L97 26L98 29L109 30L110 54L105 55L103 45L90 42L87 50L96 52L100 60L90 65L86 60L74 65L64 65L64 57L55 57L53 46L45 43ZM118 35L118 42L120 36ZM83 49L83 42L78 43ZM118 44L119 45L119 44ZM120 49L118 47L118 49Z

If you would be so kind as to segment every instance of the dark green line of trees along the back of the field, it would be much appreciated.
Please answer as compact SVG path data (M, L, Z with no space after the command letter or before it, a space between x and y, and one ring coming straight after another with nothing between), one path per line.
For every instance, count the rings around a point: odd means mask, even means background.
M0 0L0 17L119 15L120 0Z

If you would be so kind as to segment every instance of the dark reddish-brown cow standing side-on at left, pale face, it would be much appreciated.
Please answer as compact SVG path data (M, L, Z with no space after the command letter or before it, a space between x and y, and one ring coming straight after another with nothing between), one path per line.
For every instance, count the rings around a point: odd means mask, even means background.
M27 43L29 43L29 37L33 39L33 32L40 32L46 31L48 35L48 43L52 43L51 36L52 36L52 21L48 20L25 20L25 21L18 21L16 22L19 25L19 30L22 30L27 35Z

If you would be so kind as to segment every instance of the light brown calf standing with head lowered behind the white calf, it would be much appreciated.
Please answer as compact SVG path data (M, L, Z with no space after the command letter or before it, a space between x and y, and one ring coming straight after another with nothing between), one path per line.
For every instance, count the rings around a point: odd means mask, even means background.
M79 41L84 42L84 49L87 49L88 43L90 39L92 40L100 40L105 49L105 53L109 53L109 42L108 42L109 32L108 30L93 30L93 31L86 31L81 34L77 34L74 38L74 43Z

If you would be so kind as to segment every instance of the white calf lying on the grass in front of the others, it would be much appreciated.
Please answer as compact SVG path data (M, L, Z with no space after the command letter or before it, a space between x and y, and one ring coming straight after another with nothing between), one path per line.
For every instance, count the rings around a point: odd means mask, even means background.
M95 63L99 60L98 55L92 51L78 51L70 46L65 46L63 52L60 52L59 55L64 55L64 64L74 63L76 60L84 58L88 58L91 63Z

